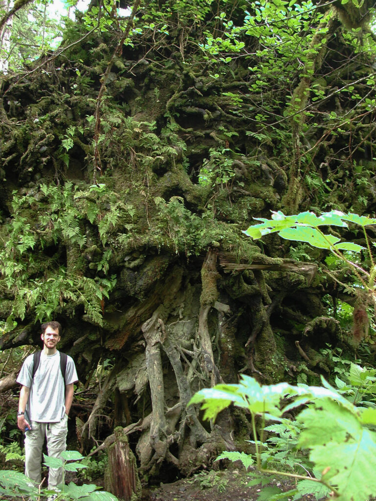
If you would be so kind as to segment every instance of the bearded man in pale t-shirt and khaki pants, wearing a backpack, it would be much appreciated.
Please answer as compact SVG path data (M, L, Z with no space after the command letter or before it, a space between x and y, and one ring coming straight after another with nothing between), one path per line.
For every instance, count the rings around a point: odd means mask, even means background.
M37 484L41 483L42 447L47 438L50 457L59 457L66 450L68 414L73 400L73 383L77 378L76 367L67 357L65 381L60 367L59 322L42 325L43 351L33 378L34 356L25 360L17 382L20 391L17 425L25 431L25 474ZM56 489L64 482L63 468L50 468L48 487Z

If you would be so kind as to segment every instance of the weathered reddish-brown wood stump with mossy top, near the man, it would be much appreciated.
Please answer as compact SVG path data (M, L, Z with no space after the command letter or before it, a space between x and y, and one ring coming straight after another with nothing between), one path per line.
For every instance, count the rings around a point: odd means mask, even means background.
M108 447L105 489L124 501L137 501L141 498L141 482L138 478L136 458L123 428L116 427L114 433L115 441Z

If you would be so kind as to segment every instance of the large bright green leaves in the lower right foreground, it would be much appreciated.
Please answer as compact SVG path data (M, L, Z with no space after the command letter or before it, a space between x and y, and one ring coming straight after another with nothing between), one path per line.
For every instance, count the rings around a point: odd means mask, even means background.
M255 379L243 375L239 384L221 384L199 391L190 404L200 403L206 419L215 419L231 403L248 409L252 416L258 470L261 473L295 476L298 480L297 488L286 495L293 493L294 499L298 499L309 492L320 498L333 491L343 501L368 498L376 493L376 480L372 480L371 474L375 466L376 433L373 425L376 423L376 410L355 407L325 380L322 379L322 382L323 388L287 383L260 386ZM293 445L309 451L309 460L317 471L322 472L316 477L268 469L268 450L263 452L264 444L256 432L255 417L259 415L284 424L281 429L276 428L278 425L271 425L270 428L279 434L278 440L281 440L288 423L282 415L302 404L306 407L299 413L297 423L291 422L289 427L295 431L301 428ZM224 452L219 458L242 460L243 455ZM278 459L274 454L271 461ZM248 467L252 461L253 458L246 457L245 466ZM281 464L286 464L284 455ZM304 469L307 470L306 467ZM271 495L270 499L280 498L276 491L268 491L265 495Z

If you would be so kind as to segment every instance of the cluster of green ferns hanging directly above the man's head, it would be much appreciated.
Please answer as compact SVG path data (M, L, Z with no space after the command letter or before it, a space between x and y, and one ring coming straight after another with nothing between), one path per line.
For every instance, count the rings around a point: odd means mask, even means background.
M64 187L42 184L36 192L24 196L14 193L14 213L5 226L7 238L0 249L1 282L15 296L8 328L13 319L24 319L30 310L34 310L36 321L50 319L66 301L83 305L91 320L101 325L101 302L109 297L116 279L77 273L79 249L87 248L82 221L87 218L94 224L105 244L119 221L119 213L113 209L115 199L116 195L104 186L101 191L96 186L82 191L71 183ZM104 208L108 200L109 210ZM127 207L124 211L129 217ZM64 246L67 262L62 260ZM46 247L52 254L47 260ZM33 253L29 254L29 250ZM99 270L108 271L110 256L108 250L104 252L105 261L99 261Z

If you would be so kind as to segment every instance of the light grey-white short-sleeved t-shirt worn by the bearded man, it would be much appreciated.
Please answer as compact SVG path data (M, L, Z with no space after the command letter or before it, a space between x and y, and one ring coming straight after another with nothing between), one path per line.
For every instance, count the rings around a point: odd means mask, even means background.
M25 360L17 382L30 388L26 412L31 421L57 423L65 412L65 384L78 381L73 359L67 356L65 383L60 369L60 352L46 355L43 351L33 379L34 355Z

